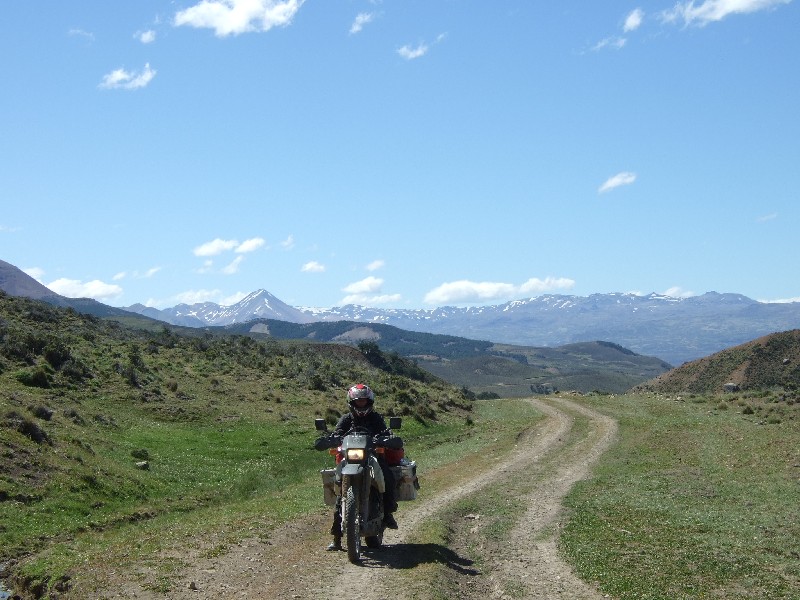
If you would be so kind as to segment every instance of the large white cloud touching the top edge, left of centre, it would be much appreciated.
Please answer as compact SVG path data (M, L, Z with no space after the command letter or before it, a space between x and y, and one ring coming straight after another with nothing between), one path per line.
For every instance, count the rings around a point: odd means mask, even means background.
M217 37L286 27L305 0L202 0L175 14L176 27L213 29Z

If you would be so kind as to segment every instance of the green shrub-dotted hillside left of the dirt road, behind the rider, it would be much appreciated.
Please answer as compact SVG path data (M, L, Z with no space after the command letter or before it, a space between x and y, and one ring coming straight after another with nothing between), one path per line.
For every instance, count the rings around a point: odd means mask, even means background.
M412 430L470 419L461 390L410 364L423 376L341 344L193 332L0 293L0 576L73 560L65 540L291 489L319 460L313 418L334 422L356 381Z

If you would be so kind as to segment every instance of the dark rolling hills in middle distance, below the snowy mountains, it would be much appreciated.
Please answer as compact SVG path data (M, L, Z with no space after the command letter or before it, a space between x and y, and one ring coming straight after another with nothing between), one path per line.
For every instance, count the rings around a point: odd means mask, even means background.
M532 348L353 321L297 324L259 319L222 330L265 339L317 340L361 348L376 345L385 353L413 359L454 385L494 397L564 390L621 393L671 368L658 358L602 341Z

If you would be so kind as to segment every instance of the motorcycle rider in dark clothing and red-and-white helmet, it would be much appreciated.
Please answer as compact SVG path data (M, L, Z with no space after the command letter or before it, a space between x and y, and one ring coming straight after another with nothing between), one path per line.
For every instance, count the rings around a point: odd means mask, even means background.
M347 432L354 427L363 427L370 435L389 435L390 429L386 427L386 421L380 413L375 412L375 394L369 386L359 383L347 390L347 404L350 409L348 413L342 415L336 428L333 431L332 437L341 440ZM383 494L384 517L383 523L389 529L397 529L397 521L395 521L392 513L397 510L397 501L395 500L394 488L395 479L392 470L386 463L386 460L381 457L378 459L383 471L384 481L386 482L386 491ZM333 513L333 525L331 526L331 535L333 542L328 546L328 550L341 550L342 549L342 511L341 511L341 498L336 501L336 510Z

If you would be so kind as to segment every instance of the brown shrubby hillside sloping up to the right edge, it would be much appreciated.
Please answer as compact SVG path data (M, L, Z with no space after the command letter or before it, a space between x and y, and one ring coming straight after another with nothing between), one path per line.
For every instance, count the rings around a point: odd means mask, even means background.
M713 394L733 384L743 391L800 388L800 329L773 333L687 363L635 391ZM730 388L730 386L729 386Z

